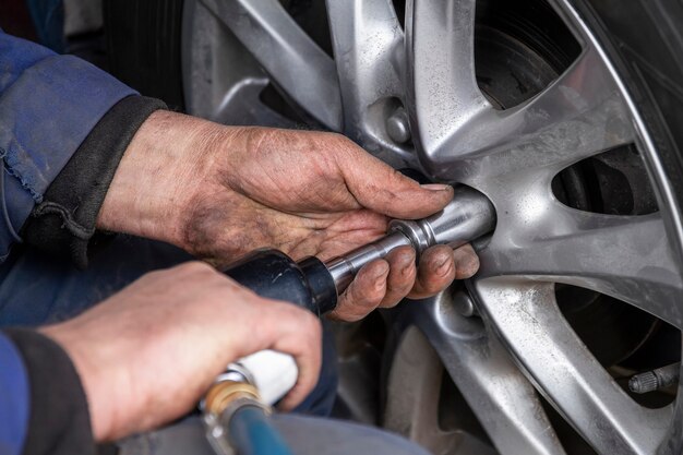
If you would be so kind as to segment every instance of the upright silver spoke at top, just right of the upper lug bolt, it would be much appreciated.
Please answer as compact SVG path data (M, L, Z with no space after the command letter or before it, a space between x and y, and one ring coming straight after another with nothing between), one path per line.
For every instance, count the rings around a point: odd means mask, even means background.
M417 120L414 142L427 161L443 154L472 117L491 109L475 76L475 5L412 0L406 7L407 96Z

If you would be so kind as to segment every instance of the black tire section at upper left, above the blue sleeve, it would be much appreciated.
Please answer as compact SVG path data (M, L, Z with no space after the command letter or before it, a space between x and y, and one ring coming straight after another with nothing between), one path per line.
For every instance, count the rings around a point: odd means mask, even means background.
M105 0L109 71L146 96L183 110L180 37L183 0Z

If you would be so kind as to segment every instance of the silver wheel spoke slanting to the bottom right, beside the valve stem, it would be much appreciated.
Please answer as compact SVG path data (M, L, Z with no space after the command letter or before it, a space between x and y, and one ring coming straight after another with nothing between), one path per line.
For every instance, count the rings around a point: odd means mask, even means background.
M672 407L633 402L568 326L551 284L490 278L476 284L481 306L543 394L599 453L651 454Z

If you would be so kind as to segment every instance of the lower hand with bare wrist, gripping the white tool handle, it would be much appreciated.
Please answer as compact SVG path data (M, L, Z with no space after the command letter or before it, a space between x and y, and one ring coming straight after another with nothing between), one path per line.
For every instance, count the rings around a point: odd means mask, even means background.
M285 409L313 388L321 364L315 316L263 299L201 262L147 274L80 316L40 331L73 360L98 441L183 416L229 362L261 349L297 360L299 380Z

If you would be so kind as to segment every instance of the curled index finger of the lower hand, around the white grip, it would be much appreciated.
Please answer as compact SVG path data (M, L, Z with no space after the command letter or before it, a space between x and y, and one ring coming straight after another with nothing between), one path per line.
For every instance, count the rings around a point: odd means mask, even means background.
M286 303L291 307L291 303ZM299 310L292 307L292 310ZM278 408L290 410L311 393L322 364L322 328L320 321L313 314L300 311L293 316L280 314L279 325L283 327L278 334L273 349L290 354L297 362L299 370L297 383L280 400Z

